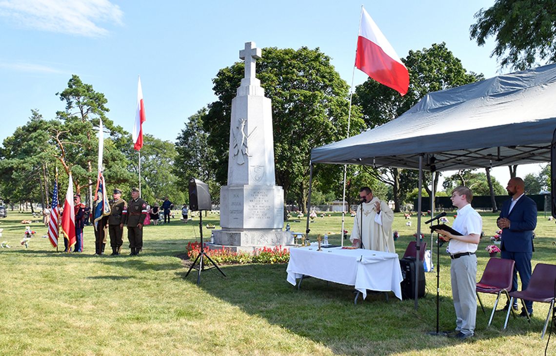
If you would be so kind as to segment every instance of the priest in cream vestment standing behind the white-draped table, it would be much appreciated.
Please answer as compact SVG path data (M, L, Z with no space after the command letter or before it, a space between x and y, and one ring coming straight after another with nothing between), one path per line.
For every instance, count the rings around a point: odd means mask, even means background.
M363 203L359 204L355 214L350 236L351 243L360 247L363 240L363 247L368 250L396 253L392 235L394 212L386 202L373 197L373 191L369 187L361 188L359 197ZM361 209L363 209L363 219L361 219ZM361 239L361 221L363 221L363 239Z

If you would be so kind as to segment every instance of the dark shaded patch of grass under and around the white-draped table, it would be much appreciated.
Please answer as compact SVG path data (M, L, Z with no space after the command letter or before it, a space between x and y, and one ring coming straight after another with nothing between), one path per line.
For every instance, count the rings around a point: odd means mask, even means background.
M388 302L380 293L369 294L365 300L359 298L354 305L351 286L309 278L304 279L301 289L297 290L286 282L286 264L220 267L226 278L215 269L202 272L200 287L207 293L301 337L325 344L337 354L396 354L415 350L416 344L427 345L425 349L434 352L460 343L428 335L436 330L436 293L420 298L418 310L414 309L414 300L399 300L393 293L389 293ZM197 271L192 270L186 278L187 269L188 266L176 271L176 275L187 283L196 284ZM436 274L432 274L428 274L429 291L436 290ZM502 330L503 313L496 313L493 325L487 328L493 301L483 298L488 315L483 315L478 306L476 337L465 343L525 332L537 333L542 329L544 319L519 325L519 320L512 320L509 328ZM439 330L454 329L454 320L453 301L442 295L439 298ZM396 335L396 339L385 339L384 335Z

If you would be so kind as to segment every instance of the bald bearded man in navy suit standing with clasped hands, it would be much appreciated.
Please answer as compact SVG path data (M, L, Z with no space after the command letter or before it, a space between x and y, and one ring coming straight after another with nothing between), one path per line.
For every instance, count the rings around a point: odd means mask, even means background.
M509 180L506 187L512 197L504 202L497 225L502 229L502 258L515 261L512 292L518 289L518 273L522 282L522 290L527 289L531 279L531 258L533 257L533 230L537 227L537 204L524 195L523 179L515 177ZM525 300L520 317L533 314L533 302ZM517 300L512 306L517 309ZM507 304L504 308L508 310Z

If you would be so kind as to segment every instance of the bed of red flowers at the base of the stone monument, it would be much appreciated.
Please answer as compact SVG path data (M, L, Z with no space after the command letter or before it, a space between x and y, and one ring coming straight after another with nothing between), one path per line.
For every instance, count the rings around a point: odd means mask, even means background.
M290 250L276 246L274 248L259 248L255 252L234 252L225 247L209 249L205 245L205 253L217 264L246 264L246 263L287 263L290 260ZM201 252L201 244L197 241L187 243L187 255L195 260Z

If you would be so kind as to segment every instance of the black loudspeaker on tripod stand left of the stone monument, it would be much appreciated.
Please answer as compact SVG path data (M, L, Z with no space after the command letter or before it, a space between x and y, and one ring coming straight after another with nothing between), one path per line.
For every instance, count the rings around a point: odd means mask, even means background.
M193 264L191 264L191 267L187 271L185 277L189 275L189 273L193 268L197 269L199 271L197 275L197 284L201 282L201 272L205 269L216 268L217 270L219 270L220 273L222 273L222 275L224 275L224 277L226 277L224 272L222 272L222 270L212 260L212 258L210 258L209 255L207 255L207 253L205 252L205 245L203 244L202 210L210 210L211 208L212 208L212 203L211 203L211 198L209 193L209 185L201 182L201 180L191 178L189 180L189 209L193 212L197 210L199 212L199 232L201 235L201 251L197 255L197 258L195 258ZM205 268L205 263L204 263L205 258L208 259L210 263L212 263L212 267Z

